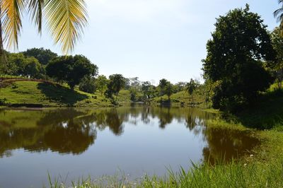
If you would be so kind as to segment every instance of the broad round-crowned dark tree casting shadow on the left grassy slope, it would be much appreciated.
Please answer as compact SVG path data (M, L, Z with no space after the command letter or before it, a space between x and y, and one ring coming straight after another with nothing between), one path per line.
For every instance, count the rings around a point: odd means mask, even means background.
M57 81L66 81L74 90L74 86L79 84L82 78L97 76L98 67L82 55L62 56L52 59L46 66L46 72Z

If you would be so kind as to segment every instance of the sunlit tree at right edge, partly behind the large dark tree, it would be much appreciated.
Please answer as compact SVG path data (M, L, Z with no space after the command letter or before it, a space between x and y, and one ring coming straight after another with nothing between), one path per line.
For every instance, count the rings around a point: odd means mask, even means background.
M277 78L279 88L282 88L283 81L283 35L279 28L273 30L272 35L272 45L276 52L275 64L272 66L272 70L275 71L275 77Z

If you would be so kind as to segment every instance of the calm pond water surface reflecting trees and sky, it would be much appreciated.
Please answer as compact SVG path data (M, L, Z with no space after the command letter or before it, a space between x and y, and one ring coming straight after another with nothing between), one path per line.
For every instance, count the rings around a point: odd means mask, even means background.
M52 176L134 179L245 154L258 141L208 129L214 115L192 108L0 110L0 187L42 187Z

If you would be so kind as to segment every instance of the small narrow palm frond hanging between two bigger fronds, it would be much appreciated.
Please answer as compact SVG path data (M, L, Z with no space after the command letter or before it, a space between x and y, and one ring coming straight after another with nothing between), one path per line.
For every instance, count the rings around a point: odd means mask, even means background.
M28 13L30 18L37 25L37 30L41 34L42 31L42 9L44 8L45 0L29 0Z

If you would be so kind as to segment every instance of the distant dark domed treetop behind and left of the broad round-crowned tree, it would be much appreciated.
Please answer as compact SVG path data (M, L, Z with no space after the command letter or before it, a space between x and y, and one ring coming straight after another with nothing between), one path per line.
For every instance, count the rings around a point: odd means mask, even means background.
M35 57L40 64L43 65L47 65L51 59L57 57L56 53L52 52L50 49L44 49L43 47L27 49L23 54L25 57Z

